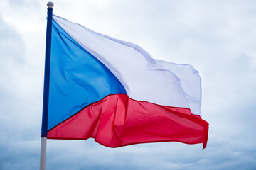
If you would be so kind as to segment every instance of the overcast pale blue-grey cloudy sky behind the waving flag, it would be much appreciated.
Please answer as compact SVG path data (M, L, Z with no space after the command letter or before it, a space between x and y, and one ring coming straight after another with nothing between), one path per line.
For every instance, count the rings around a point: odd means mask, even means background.
M45 0L0 1L0 169L39 169ZM192 64L208 146L48 140L46 169L256 169L256 1L55 0L53 13Z

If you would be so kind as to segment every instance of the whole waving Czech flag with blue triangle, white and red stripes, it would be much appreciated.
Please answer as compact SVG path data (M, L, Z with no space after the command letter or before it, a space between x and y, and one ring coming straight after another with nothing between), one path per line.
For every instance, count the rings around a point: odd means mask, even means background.
M201 78L192 66L154 60L137 45L59 16L53 16L50 56L48 139L206 147Z

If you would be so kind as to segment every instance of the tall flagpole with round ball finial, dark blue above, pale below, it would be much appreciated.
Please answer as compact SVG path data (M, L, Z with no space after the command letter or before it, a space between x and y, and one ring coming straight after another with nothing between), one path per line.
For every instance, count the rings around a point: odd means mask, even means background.
M45 74L43 84L43 118L42 118L42 134L41 134L41 156L40 170L46 169L46 143L47 143L47 124L48 124L48 101L49 101L49 79L50 79L50 47L51 32L53 20L53 2L47 3L47 28L46 28L46 60Z

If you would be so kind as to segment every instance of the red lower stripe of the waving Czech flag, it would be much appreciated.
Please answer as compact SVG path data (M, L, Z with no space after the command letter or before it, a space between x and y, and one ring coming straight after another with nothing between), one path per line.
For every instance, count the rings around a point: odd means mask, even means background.
M204 149L208 123L188 108L159 106L135 101L127 94L113 94L48 131L49 139L86 140L90 137L107 147L177 141L203 143Z

